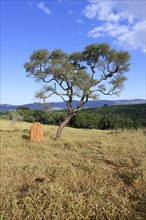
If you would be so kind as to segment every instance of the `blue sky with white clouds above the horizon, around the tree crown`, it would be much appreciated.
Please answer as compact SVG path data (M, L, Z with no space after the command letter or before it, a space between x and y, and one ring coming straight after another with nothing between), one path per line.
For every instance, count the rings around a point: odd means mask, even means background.
M26 77L23 68L35 49L62 48L72 53L102 42L129 51L131 67L120 97L101 95L100 99L145 99L145 4L142 0L2 0L1 104L38 101L34 94L41 84Z

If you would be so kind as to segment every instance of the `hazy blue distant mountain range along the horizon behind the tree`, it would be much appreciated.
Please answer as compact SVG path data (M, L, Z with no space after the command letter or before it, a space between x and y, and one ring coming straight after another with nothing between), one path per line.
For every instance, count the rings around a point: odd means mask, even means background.
M98 100L98 101L88 101L84 108L96 108L104 105L112 106L112 105L129 105L129 104L143 104L146 103L144 99L133 99L133 100ZM73 101L73 108L75 108L78 104L78 101ZM35 102L31 104L24 105L9 105L9 104L0 104L0 111L9 111L15 110L20 106L29 107L32 110L44 110L44 107L41 103ZM65 102L50 102L48 103L49 110L61 110L66 109Z

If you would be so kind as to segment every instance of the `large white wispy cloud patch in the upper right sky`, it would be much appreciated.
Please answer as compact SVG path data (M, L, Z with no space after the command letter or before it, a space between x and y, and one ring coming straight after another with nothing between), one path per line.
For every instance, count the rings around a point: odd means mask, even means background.
M145 51L145 5L144 1L89 0L84 15L98 21L88 32L89 37L112 37L113 43L126 49Z

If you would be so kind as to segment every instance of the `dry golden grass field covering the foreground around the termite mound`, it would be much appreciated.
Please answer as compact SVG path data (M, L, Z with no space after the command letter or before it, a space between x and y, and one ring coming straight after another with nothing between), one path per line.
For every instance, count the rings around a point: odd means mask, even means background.
M145 219L146 131L30 126L1 120L1 220Z

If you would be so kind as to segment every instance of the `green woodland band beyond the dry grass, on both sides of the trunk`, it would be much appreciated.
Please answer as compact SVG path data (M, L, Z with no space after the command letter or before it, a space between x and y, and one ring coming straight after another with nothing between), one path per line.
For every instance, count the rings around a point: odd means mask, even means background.
M1 113L1 118L16 121L40 122L48 125L60 125L66 117L66 110L43 111L19 107L16 111ZM146 104L104 106L83 109L71 119L70 127L88 129L130 129L146 127Z

